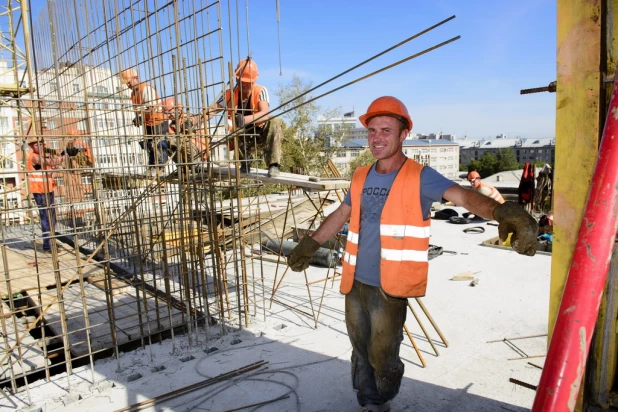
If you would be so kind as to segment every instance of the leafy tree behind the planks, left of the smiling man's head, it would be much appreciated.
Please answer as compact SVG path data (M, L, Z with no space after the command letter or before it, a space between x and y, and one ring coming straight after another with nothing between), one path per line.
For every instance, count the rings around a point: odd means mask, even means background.
M276 95L280 102L287 102L311 87L310 80L294 75L288 84L279 85ZM292 110L282 116L286 128L281 145L281 163L288 170L320 175L327 160L339 147L344 131L327 132L319 129L316 123L318 117L336 117L338 111L323 110L315 102L306 103L311 98L312 95L307 94L283 107L283 110ZM298 107L301 104L304 105Z

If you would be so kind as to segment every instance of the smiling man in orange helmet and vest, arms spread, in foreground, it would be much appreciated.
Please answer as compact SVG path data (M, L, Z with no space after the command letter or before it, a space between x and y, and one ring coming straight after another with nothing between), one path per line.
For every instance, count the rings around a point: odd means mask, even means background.
M403 141L412 130L406 106L395 97L374 100L360 116L376 158L358 167L349 192L318 229L288 257L294 271L309 266L320 244L349 219L340 290L352 343L352 386L364 411L389 411L404 365L399 358L407 298L425 295L431 204L443 198L499 222L500 238L512 233L513 248L536 252L537 223L518 204L500 204L407 158Z

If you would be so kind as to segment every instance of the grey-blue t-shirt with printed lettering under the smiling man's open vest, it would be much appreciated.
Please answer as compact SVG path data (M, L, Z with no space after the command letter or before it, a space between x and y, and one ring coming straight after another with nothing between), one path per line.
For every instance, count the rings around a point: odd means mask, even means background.
M380 217L398 171L380 174L371 167L361 195L360 232L354 279L370 286L380 286ZM421 210L429 216L431 204L442 200L442 195L455 182L431 167L421 172ZM350 192L343 202L352 206Z

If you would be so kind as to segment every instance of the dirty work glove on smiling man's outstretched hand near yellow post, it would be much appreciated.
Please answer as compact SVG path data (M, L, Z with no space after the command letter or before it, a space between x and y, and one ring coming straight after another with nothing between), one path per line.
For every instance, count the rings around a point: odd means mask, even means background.
M513 233L511 247L521 255L534 256L539 225L528 212L517 203L505 202L494 209L494 220L502 242Z

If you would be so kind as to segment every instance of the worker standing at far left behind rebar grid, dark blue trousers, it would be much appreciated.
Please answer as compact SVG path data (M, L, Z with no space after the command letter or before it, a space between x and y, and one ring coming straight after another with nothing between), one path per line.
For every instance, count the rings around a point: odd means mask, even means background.
M51 150L46 149L43 138L31 136L28 137L27 143L30 147L26 157L28 191L32 194L39 208L39 219L43 232L43 252L50 252L50 236L53 236L56 224L56 210L54 208L56 181L51 170L59 168L66 156L55 156Z

